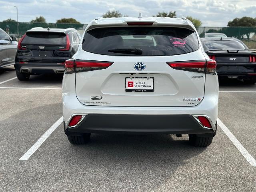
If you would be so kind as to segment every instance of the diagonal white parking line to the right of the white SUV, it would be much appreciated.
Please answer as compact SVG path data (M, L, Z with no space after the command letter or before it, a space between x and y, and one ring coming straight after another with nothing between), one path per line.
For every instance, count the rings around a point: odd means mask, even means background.
M251 166L256 166L256 160L251 156L251 154L242 146L242 144L237 140L237 138L230 132L230 130L224 125L224 123L218 118L218 126L224 131L240 153L246 158L246 160L251 164Z

